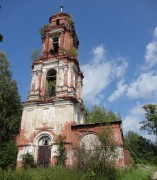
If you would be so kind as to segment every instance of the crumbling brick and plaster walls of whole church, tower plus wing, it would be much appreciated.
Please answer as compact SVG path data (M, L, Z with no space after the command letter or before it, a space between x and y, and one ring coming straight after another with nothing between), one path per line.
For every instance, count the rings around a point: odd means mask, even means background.
M82 100L84 76L77 57L64 53L73 47L78 49L79 41L74 26L69 23L68 14L55 14L50 17L49 22L50 27L42 37L42 56L32 65L31 89L24 104L21 131L17 137L17 167L21 166L21 154L27 151L38 161L39 139L43 136L47 136L52 143L50 161L52 165L56 164L56 142L59 134L66 136L66 165L73 165L76 158L72 152L79 145L81 138L91 133L97 135L102 127L107 127L103 123L79 124L84 123L86 115ZM55 36L59 39L59 50L54 53ZM47 72L52 69L56 72L56 95L49 97ZM122 151L115 165L123 167L129 164L129 153L126 152L124 163L120 125L121 122L118 121L110 123L116 145Z

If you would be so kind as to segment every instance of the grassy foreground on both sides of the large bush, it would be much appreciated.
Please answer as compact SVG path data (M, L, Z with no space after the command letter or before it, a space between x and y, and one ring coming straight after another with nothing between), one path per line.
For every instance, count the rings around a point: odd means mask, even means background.
M137 166L130 169L119 170L117 180L148 180L157 171L157 167ZM104 180L103 177L92 173L78 172L61 167L48 167L20 170L0 170L0 180ZM111 178L112 180L112 178Z

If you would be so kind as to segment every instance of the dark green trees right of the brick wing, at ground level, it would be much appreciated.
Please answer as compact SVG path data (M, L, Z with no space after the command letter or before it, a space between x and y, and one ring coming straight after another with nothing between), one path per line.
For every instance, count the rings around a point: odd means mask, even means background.
M124 138L124 146L131 148L131 156L135 163L154 163L157 164L157 149L150 141L139 134L129 131Z

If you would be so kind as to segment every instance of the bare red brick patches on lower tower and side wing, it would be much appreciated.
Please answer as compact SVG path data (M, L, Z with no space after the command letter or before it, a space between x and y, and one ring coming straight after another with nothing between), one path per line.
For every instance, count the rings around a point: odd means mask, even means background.
M64 126L62 126L60 133L62 136L66 137L66 151L70 152L71 150L74 150L75 147L77 147L80 143L80 140L83 136L87 134L98 134L102 127L105 127L104 125L97 124L84 124L84 125L76 125L75 122L69 122L66 123ZM111 124L110 127L112 128L113 134L116 134L116 144L117 146L123 147L123 141L122 141L122 134L121 134L121 128L120 123ZM20 138L17 140L17 144L19 146L19 150L21 150L22 146L28 145L35 137L37 137L41 132L49 132L52 137L54 138L54 142L57 142L58 134L55 134L52 130L49 130L48 127L43 126L42 128L38 129L38 131L32 133L29 139L26 139L26 133L25 131L21 130ZM130 154L128 151L124 151L124 158L120 158L118 162L115 164L116 166L128 166L130 165ZM74 157L72 157L75 159ZM56 163L55 157L52 157L51 159L52 165ZM74 162L73 162L74 163Z

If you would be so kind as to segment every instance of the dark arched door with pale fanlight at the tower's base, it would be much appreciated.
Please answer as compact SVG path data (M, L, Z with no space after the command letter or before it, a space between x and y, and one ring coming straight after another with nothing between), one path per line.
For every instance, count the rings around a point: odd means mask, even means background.
M51 162L52 143L48 136L43 136L38 141L38 165L48 166Z

